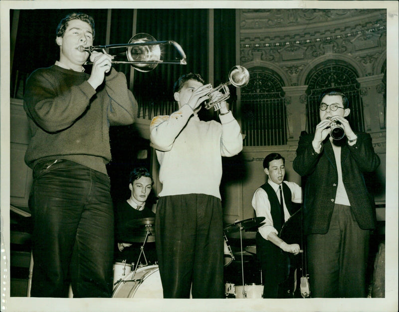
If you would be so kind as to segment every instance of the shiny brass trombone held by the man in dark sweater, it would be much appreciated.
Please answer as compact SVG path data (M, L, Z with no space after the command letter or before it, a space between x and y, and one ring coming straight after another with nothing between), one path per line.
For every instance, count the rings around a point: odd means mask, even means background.
M164 60L161 46L171 46L179 53L179 59ZM78 50L87 51L91 54L93 51L101 51L102 49L126 48L127 60L113 60L113 64L130 64L138 71L148 72L153 70L158 64L180 64L187 65L186 54L179 43L173 40L157 41L148 33L138 33L134 35L126 44L107 44L97 46L78 47ZM123 54L123 53L122 53ZM113 55L116 57L117 55ZM86 62L85 65L93 64Z

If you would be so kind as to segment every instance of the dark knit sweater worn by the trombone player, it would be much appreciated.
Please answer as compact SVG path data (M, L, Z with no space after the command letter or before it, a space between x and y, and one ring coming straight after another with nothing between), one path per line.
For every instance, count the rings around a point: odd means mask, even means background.
M137 102L123 73L112 69L97 90L89 77L57 65L29 76L23 103L31 136L25 154L29 167L63 158L107 173L109 126L132 124Z

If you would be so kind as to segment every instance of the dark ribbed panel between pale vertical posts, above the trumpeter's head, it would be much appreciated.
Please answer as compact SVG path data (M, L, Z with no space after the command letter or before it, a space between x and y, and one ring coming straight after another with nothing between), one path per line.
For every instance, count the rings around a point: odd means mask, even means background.
M135 71L133 92L139 101L173 101L173 84L182 74L197 72L207 79L207 9L139 9L140 32L158 41L179 43L187 65L164 64L150 72Z

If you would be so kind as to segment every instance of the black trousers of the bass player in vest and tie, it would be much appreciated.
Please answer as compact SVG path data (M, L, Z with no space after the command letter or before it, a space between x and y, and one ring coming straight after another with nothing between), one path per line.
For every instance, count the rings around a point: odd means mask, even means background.
M257 232L256 257L262 269L263 298L279 298L278 285L288 278L288 255Z

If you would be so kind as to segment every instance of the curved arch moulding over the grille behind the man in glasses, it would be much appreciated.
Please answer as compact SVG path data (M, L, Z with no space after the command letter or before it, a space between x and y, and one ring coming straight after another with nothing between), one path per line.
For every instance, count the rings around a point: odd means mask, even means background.
M309 73L312 72L315 67L319 66L319 64L325 63L326 61L332 61L332 60L342 61L349 64L356 71L358 77L365 76L365 72L362 65L359 64L352 57L348 57L343 54L322 55L320 57L315 58L313 61L307 64L306 67L301 71L301 73L298 75L298 85L300 86L306 85L305 81L309 76Z

